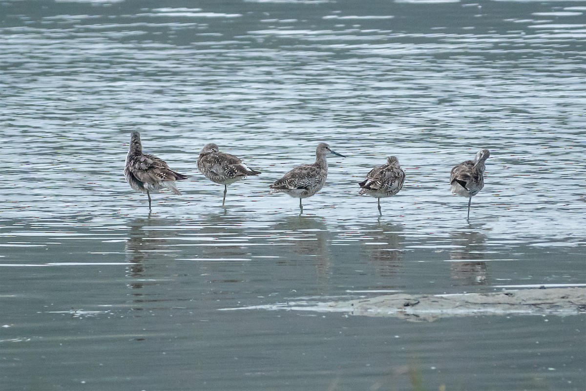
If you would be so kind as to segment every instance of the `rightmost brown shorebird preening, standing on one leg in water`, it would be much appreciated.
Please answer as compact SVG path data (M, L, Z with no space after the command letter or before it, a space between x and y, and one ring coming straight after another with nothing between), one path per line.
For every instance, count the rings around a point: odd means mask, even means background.
M490 156L488 149L481 149L474 160L466 160L452 168L449 178L452 193L462 197L468 197L468 217L470 218L470 203L472 196L478 194L484 187L484 162Z

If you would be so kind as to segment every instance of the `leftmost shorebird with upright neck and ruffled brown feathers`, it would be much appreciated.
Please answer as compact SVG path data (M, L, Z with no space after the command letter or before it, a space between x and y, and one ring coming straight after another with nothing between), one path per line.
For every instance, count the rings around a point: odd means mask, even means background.
M137 131L133 131L130 135L130 148L126 157L124 176L132 189L147 193L149 210L151 210L151 192L169 189L175 194L181 194L175 186L175 181L188 178L169 169L162 159L143 154L141 134Z

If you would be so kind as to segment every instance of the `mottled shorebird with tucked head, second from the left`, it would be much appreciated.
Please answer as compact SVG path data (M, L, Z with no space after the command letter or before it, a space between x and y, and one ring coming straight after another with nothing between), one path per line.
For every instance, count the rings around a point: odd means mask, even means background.
M260 172L248 168L239 158L234 155L224 154L216 144L206 144L197 158L197 168L212 182L224 185L224 198L222 205L226 202L228 185L247 175L258 175Z

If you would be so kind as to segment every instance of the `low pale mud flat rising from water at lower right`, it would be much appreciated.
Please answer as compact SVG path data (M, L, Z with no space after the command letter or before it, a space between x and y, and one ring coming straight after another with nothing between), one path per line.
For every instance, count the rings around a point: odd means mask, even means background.
M586 288L502 290L493 293L436 295L391 294L350 301L287 302L254 307L226 308L315 312L346 312L368 317L397 317L434 321L475 315L586 314Z

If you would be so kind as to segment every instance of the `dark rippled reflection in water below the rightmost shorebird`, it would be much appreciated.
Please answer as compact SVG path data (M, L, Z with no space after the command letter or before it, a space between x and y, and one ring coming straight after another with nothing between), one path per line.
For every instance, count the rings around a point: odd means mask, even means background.
M486 285L486 235L481 232L482 225L466 225L452 233L451 241L455 246L450 251L450 277L458 280L458 285Z

